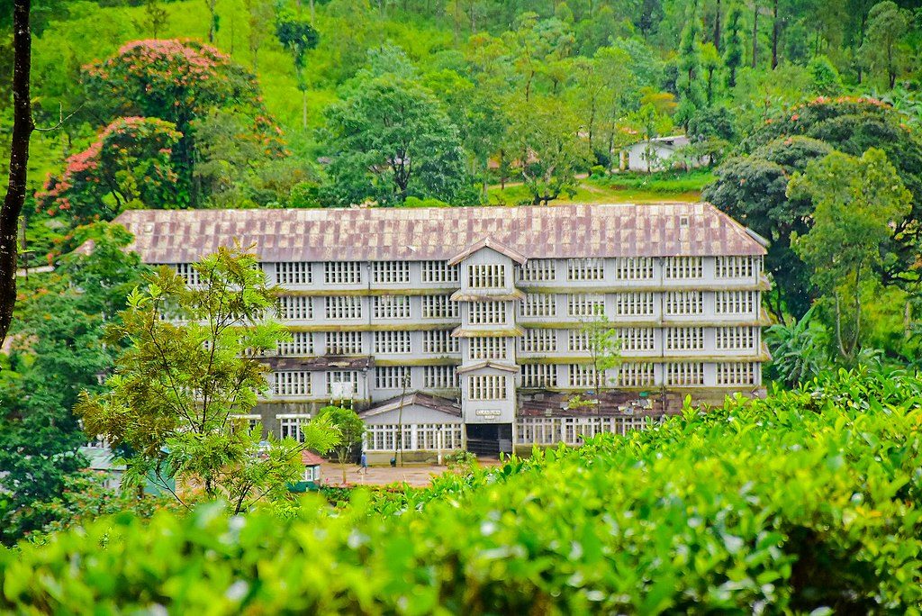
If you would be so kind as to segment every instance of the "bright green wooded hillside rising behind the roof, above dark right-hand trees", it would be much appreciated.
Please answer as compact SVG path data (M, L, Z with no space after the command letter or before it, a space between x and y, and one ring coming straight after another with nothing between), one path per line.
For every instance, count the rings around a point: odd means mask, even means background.
M37 117L66 121L35 136L30 181L63 178L65 197L102 218L142 206L460 205L486 201L485 184L522 184L493 195L505 203L592 198L574 176L604 180L643 137L688 132L686 157L716 163L817 95L870 94L916 113L914 4L41 0ZM177 88L183 100L165 96ZM169 125L120 120L134 116ZM68 160L95 164L116 140L125 151L100 161L105 185L70 177ZM597 184L609 196L612 184Z

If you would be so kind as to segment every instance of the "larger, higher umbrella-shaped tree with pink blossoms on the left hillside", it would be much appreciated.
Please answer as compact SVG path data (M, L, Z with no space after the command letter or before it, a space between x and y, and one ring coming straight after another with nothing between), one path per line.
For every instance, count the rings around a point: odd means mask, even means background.
M127 42L108 60L84 66L84 72L90 95L110 101L112 113L160 118L181 133L171 149L180 207L195 207L202 197L195 182L198 157L190 130L195 119L219 108L266 117L255 77L198 41ZM255 123L253 131L278 138L271 121Z

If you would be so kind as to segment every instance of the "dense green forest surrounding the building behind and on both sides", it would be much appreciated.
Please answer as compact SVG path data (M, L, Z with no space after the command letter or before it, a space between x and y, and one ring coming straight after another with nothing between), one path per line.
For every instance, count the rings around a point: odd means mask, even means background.
M30 273L0 356L4 542L140 506L90 506L74 456L72 409L108 395L124 351L105 326L152 301L129 295L151 273L108 224L126 208L703 198L771 241L777 385L922 361L918 2L34 0L32 23L41 130ZM677 134L675 168L621 169L625 147Z

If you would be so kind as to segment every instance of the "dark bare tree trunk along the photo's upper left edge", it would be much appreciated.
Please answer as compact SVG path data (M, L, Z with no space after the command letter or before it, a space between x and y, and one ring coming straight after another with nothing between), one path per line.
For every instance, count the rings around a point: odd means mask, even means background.
M13 136L9 153L9 183L0 208L0 343L6 339L16 306L17 236L19 214L26 200L29 139L32 123L30 71L32 35L29 25L31 0L13 5Z

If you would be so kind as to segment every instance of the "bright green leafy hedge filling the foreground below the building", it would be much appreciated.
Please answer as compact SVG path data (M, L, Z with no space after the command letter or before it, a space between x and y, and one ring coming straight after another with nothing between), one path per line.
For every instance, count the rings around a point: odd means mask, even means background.
M920 393L841 373L293 520L101 519L0 553L0 609L918 613Z

